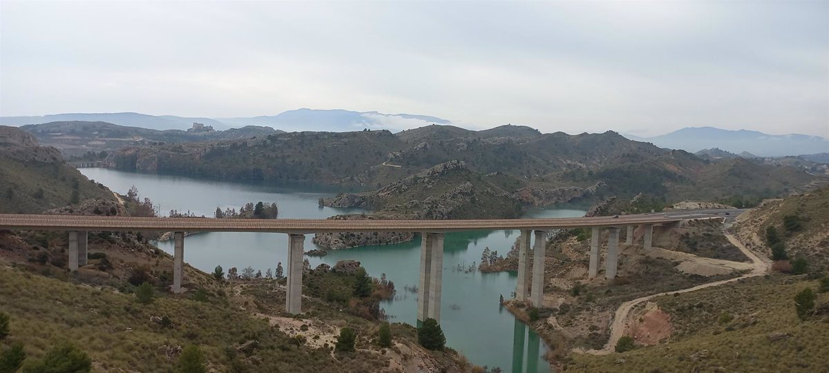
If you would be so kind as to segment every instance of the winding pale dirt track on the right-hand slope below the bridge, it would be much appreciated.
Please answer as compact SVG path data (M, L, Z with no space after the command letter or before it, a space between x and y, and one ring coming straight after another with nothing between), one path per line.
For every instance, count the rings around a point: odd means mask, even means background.
M623 303L619 308L616 310L616 313L613 317L613 325L610 327L610 339L608 343L604 345L604 348L601 350L576 350L583 353L589 353L594 355L607 355L613 352L614 348L616 347L616 342L618 342L619 338L623 336L625 332L625 322L628 319L628 315L630 314L631 310L636 307L638 304L642 304L642 302L647 301L648 299L652 299L655 297L659 297L662 295L670 295L670 294L681 294L681 293L688 293L691 291L696 291L699 289L710 288L712 286L719 286L723 284L728 284L730 282L734 282L737 280L748 279L749 277L765 275L768 272L768 269L771 268L771 261L768 259L760 258L759 256L754 254L754 251L750 251L747 247L743 245L743 242L740 242L737 237L734 237L728 232L725 232L725 237L728 238L728 241L731 242L734 246L739 248L739 251L743 251L745 256L748 256L751 259L753 270L748 275L742 275L739 277L735 277L729 280L720 280L715 282L710 282L707 284L696 285L691 288L675 290L675 291L667 291L665 293L659 294L652 294L647 295L642 298L637 298L633 300L628 300L627 302Z

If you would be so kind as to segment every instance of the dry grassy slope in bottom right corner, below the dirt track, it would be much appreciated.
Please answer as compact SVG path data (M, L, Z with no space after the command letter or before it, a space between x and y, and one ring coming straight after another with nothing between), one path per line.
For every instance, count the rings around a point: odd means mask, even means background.
M829 371L829 318L802 322L794 310L794 294L807 286L817 281L773 276L657 298L675 327L667 344L574 355L566 371ZM817 304L827 302L820 294ZM791 336L772 341L774 333Z

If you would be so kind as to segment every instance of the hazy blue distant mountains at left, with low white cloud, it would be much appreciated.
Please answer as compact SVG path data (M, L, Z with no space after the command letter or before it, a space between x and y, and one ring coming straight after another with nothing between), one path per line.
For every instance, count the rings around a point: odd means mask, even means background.
M263 117L176 117L148 115L138 112L71 113L36 117L0 117L0 124L24 126L49 122L108 122L119 126L142 127L153 130L187 130L193 122L212 126L216 130L245 126L274 127L286 132L359 131L363 128L388 129L394 132L429 124L449 124L439 117L412 114L384 114L381 112L351 112L348 110L315 110L302 108Z

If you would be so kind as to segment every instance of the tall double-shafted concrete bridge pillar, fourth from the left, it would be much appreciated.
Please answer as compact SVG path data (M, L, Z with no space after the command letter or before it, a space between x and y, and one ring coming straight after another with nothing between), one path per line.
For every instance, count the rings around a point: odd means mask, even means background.
M417 319L434 318L440 322L440 295L444 273L444 234L423 233L420 241L420 280Z

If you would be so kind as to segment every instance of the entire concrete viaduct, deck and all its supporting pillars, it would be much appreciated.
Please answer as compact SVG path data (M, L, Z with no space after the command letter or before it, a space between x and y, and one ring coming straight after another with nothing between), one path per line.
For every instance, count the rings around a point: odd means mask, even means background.
M174 232L174 293L182 292L184 232L279 232L288 234L287 294L285 310L302 312L303 253L305 234L317 232L419 232L420 280L418 319L440 320L440 293L444 269L444 234L473 230L516 229L521 231L518 251L516 299L541 307L544 291L546 232L553 229L591 227L589 276L599 274L601 229L608 230L605 276L616 277L619 229L627 227L627 243L633 244L633 228L644 227L643 245L650 248L654 224L712 218L732 210L705 210L684 213L657 213L595 218L486 219L486 220L325 220L325 219L213 219L133 218L77 215L0 214L0 229L69 232L69 267L86 265L87 232ZM535 242L532 242L532 237ZM530 246L534 247L530 258ZM532 261L532 273L530 262Z

